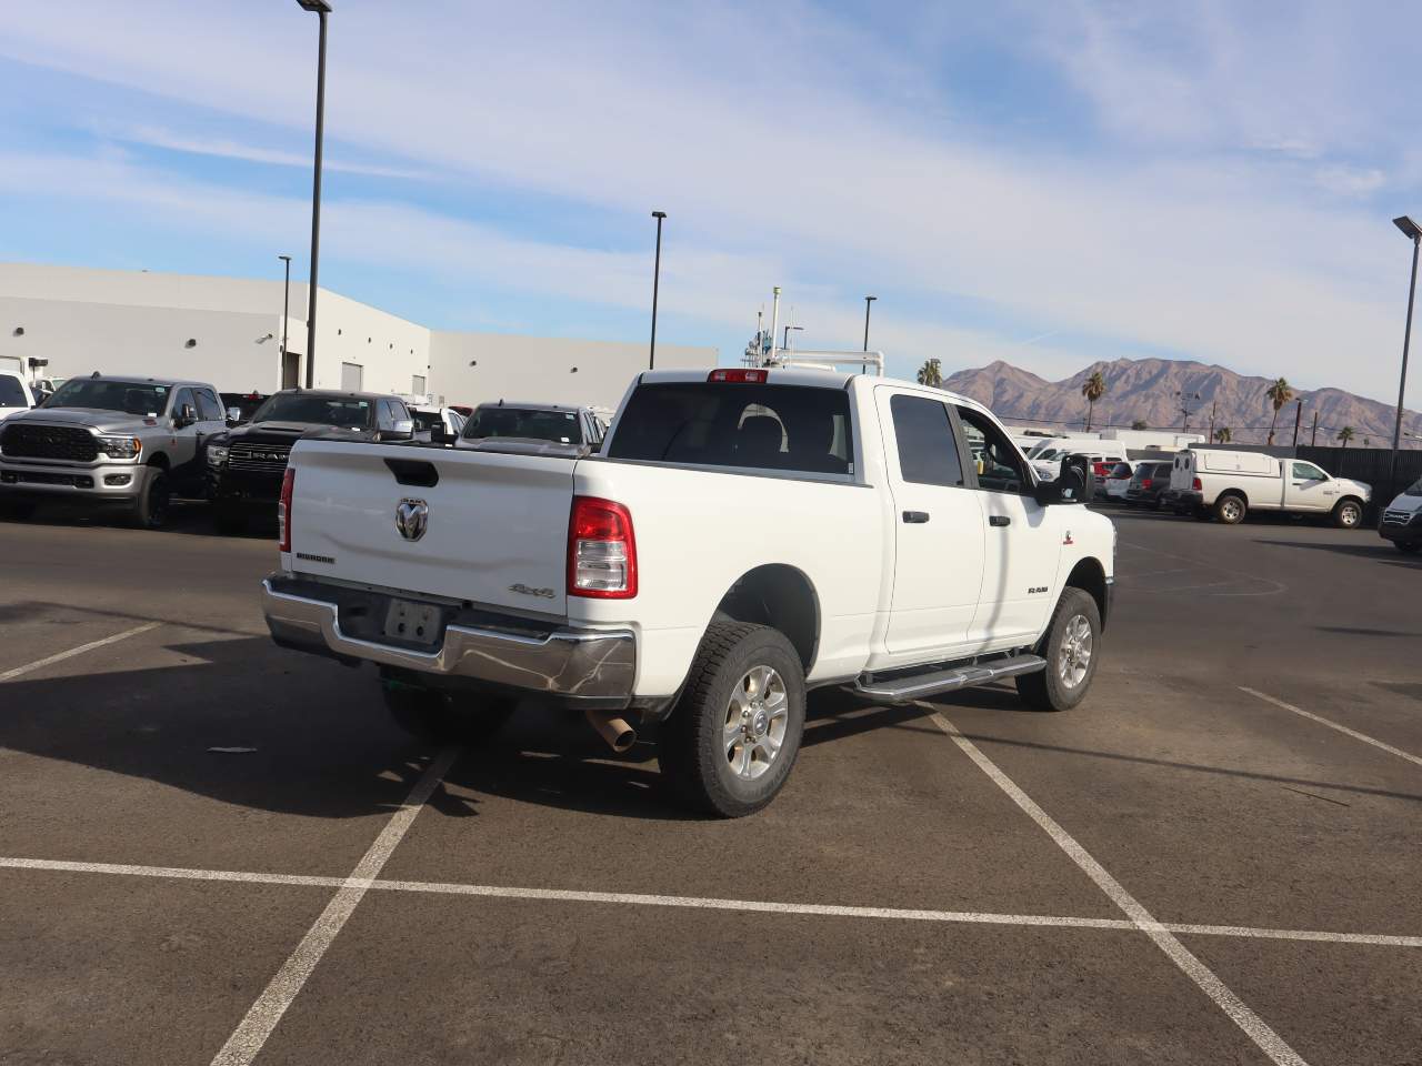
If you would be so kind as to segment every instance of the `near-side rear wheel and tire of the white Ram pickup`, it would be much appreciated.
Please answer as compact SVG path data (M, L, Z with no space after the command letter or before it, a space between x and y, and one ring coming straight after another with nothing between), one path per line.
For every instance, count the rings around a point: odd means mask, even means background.
M784 715L765 721L765 701L742 688L762 669L778 675L776 694L784 694ZM749 696L744 714L751 715L745 725L751 732L735 736L754 738L755 743L728 748L727 725L737 691L741 699ZM782 723L779 746L766 759L765 745L774 738L776 718ZM661 726L657 759L668 783L691 807L725 819L745 817L765 807L785 785L803 732L805 671L785 634L769 625L714 621L701 638L681 699Z

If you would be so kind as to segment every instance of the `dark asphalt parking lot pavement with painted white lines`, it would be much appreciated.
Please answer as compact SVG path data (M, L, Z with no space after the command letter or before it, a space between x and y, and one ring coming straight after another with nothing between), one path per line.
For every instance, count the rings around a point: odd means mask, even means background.
M1108 513L1086 704L818 692L729 823L405 738L201 509L0 523L0 1062L1422 1062L1422 561Z

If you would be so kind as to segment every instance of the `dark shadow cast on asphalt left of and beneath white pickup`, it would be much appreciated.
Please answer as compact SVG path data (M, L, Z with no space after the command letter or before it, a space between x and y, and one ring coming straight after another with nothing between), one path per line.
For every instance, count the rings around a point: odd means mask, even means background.
M373 671L219 634L114 645L104 672L0 682L0 748L300 817L364 817L405 800L435 748L390 722ZM580 715L535 711L462 746L445 782L475 796L441 787L429 806L472 817L482 797L499 796L611 817L700 817L660 786L654 758L646 742L616 756Z

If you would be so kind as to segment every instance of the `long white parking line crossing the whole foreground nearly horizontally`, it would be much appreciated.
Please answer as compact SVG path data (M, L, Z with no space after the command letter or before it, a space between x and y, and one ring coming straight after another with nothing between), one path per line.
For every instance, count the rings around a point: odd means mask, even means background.
M321 877L313 874L269 874L247 870L196 870L178 866L129 866L124 863L74 863L61 858L6 858L0 868L51 870L77 874L111 874L119 877L156 877L178 881L232 881L237 884L316 885L343 888L350 877ZM1066 930L1139 931L1125 918L1078 918L1057 914L1003 914L997 911L933 911L907 907L849 907L840 904L778 903L769 900L727 900L704 895L651 895L647 893L597 893L576 888L519 888L493 884L459 884L451 881L390 881L380 877L363 881L367 888L390 893L432 893L437 895L472 895L495 900L546 900L553 903L593 903L624 907L684 907L701 911L749 911L755 914L789 914L825 918L866 918L887 921L929 921L967 925L1025 925ZM1330 932L1327 930L1271 930L1250 925L1200 925L1194 922L1160 922L1170 932L1200 937L1234 937L1239 940L1295 940L1317 944L1355 944L1382 948L1422 948L1422 937L1399 937L1385 932Z

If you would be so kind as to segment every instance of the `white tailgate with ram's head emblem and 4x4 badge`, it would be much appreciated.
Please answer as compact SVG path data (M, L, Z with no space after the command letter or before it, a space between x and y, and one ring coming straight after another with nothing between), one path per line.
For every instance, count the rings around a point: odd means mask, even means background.
M576 459L301 441L290 466L293 571L566 617Z

